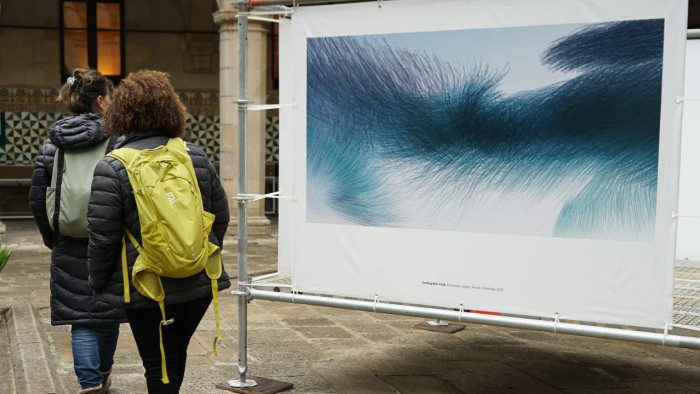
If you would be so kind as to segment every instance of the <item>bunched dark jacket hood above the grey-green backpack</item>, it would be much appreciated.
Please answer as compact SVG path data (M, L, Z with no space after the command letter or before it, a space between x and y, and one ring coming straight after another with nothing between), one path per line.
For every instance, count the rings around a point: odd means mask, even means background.
M85 149L107 139L101 114L81 114L63 118L49 129L49 138L61 149Z

